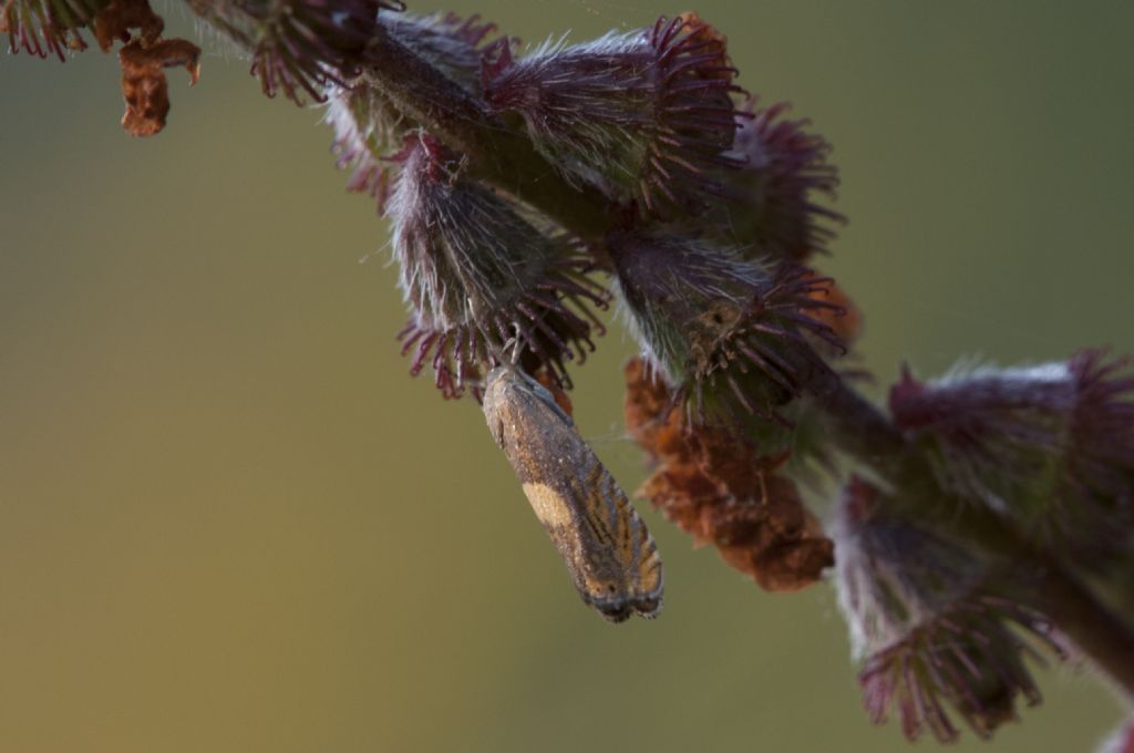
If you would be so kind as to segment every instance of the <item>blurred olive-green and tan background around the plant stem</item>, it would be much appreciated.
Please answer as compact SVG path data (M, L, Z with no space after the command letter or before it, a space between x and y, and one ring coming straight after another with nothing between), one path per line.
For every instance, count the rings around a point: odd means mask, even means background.
M448 8L531 41L688 9ZM1134 352L1134 6L694 9L835 144L852 222L827 271L879 389L902 359ZM119 128L112 57L0 64L0 750L906 750L861 710L826 585L763 594L645 510L661 618L583 607L475 404L406 375L386 227L320 113L205 44L149 141ZM575 371L628 489L632 348L616 331ZM992 750L1117 722L1085 674L1040 679Z

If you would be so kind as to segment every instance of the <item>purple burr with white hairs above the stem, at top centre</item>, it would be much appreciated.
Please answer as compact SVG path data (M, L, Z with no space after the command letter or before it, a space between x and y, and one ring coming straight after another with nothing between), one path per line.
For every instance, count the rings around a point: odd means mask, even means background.
M548 42L517 60L505 43L485 65L484 94L523 116L568 180L663 215L702 210L720 193L712 174L739 166L728 154L735 74L725 39L686 15L583 44Z

